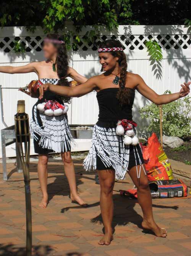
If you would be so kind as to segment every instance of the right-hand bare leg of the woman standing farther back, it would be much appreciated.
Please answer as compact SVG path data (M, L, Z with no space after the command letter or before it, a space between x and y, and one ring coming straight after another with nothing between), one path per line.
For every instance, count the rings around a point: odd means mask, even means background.
M87 203L84 202L81 197L79 197L76 188L76 176L74 170L74 163L71 159L71 152L61 153L62 161L64 164L64 170L66 177L68 179L69 187L70 187L70 198L72 201L76 201L81 206L87 206Z

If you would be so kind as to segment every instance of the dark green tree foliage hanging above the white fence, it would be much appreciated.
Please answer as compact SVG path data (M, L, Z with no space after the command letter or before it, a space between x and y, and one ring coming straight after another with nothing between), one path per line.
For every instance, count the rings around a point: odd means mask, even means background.
M190 0L2 0L0 25L182 25L190 12Z

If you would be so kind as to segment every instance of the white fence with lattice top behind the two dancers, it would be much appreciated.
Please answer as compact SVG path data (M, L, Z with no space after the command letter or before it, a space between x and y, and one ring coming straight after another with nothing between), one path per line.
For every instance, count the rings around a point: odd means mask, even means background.
M72 27L70 26L70 29ZM97 46L92 42L86 45L83 41L84 33L91 29L85 28L81 32L81 41L78 51L69 51L70 66L73 66L80 74L87 78L100 74L100 64L98 61ZM0 30L0 65L24 65L32 61L43 59L42 41L44 33L37 28L34 34L26 31L24 27L7 27ZM157 93L162 94L169 89L172 92L180 90L180 84L191 80L191 35L184 26L119 26L117 31L108 33L102 31L101 40L117 38L125 47L128 59L128 71L142 76L146 83ZM146 51L145 41L155 39L163 50L163 61L160 67L160 79L154 75L153 65L149 60ZM13 52L14 41L19 40L26 44L26 53L21 55ZM99 42L99 38L95 41ZM23 87L32 79L36 79L36 74L0 74L0 84L3 87ZM16 103L19 99L26 102L26 112L31 116L32 106L36 99L15 89L3 89L3 109L5 122L8 126L14 123L16 113ZM139 108L144 106L147 99L136 93L133 106L134 120L143 126L139 120ZM96 92L88 95L73 98L68 112L70 124L95 124L98 117L98 104ZM0 129L5 128L1 122Z

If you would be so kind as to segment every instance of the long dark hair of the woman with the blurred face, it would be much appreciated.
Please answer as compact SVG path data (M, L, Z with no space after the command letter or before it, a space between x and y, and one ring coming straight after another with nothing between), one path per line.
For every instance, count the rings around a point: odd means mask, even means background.
M64 41L63 36L59 34L48 34L46 37L49 39ZM58 81L58 85L70 86L68 80L65 78L68 71L68 55L66 51L66 45L57 44L57 43L53 43L53 45L57 48L57 51L58 51L57 60L56 60L57 74L58 74L58 77L60 78ZM70 97L62 96L62 100L66 103L71 103Z

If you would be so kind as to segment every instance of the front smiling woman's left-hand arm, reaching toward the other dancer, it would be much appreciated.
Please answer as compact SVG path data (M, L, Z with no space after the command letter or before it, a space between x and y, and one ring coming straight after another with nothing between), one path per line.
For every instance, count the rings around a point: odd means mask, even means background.
M51 91L58 95L64 95L68 97L78 97L80 95L87 94L96 88L96 78L90 78L86 83L80 84L75 87L59 86L54 84L42 84L39 87L40 97L42 99L45 91Z

